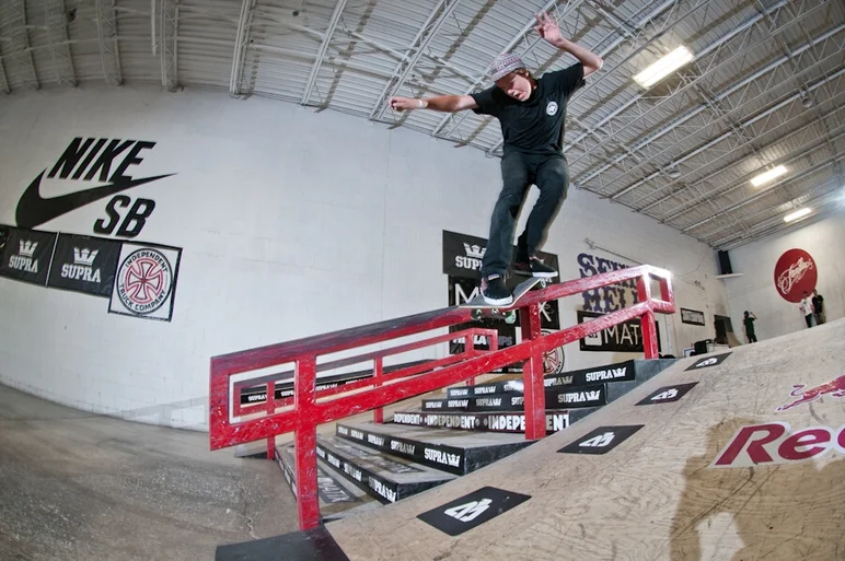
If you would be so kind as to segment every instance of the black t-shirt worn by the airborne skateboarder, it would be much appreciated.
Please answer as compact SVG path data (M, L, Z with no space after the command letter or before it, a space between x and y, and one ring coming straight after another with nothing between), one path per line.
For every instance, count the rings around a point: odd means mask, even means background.
M471 94L478 115L493 115L501 124L503 150L526 154L555 154L564 148L566 106L572 93L586 82L583 65L546 72L524 102L514 100L499 86Z

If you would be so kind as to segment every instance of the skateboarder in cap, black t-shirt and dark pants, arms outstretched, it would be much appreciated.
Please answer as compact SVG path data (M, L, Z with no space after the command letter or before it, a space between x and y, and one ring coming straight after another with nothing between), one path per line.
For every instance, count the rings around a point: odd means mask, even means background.
M490 236L482 264L482 294L488 304L508 305L513 295L505 285L513 249L513 229L532 184L540 198L517 243L513 270L533 277L556 277L557 271L536 256L557 209L566 199L569 172L563 154L566 107L584 78L602 68L601 57L560 36L557 22L545 12L536 15L536 32L547 43L571 54L578 62L534 78L519 56L501 54L493 61L496 85L470 95L439 95L428 100L392 97L395 110L431 109L456 113L472 109L499 119L503 138L502 189L490 220Z

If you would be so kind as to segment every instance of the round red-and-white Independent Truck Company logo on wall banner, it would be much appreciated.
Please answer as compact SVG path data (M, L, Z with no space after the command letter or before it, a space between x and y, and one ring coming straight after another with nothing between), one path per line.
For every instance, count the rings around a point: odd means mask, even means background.
M134 314L146 315L159 309L170 296L173 267L161 252L138 249L124 259L117 279L123 305Z

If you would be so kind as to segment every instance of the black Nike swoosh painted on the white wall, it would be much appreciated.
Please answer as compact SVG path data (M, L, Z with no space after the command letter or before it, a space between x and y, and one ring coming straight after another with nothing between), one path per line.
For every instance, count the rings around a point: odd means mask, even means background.
M111 197L112 195L138 187L146 183L151 183L164 177L170 177L176 174L157 175L155 177L144 177L143 179L132 179L126 183L112 183L108 185L101 185L100 187L93 187L91 189L84 189L81 191L69 192L68 195L61 195L60 197L50 197L45 199L42 197L38 188L40 187L44 174L47 173L45 168L35 180L30 184L26 190L21 196L21 200L18 201L18 211L15 212L15 220L20 227L36 227L45 222L67 214L78 208L90 204L100 199Z

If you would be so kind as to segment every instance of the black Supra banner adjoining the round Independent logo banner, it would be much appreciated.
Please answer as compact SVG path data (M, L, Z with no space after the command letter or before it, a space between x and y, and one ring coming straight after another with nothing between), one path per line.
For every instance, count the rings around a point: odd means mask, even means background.
M120 242L59 234L47 285L109 297L119 255Z

